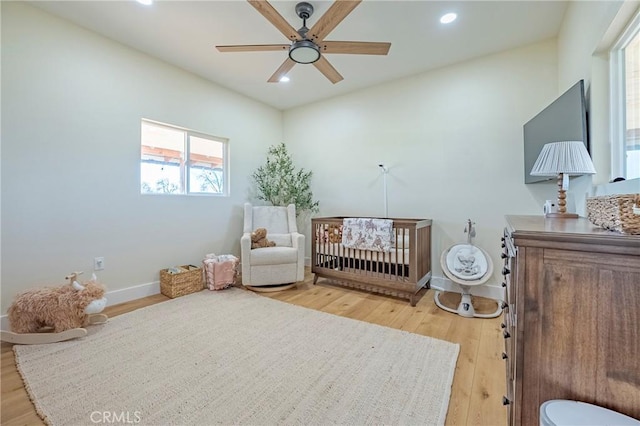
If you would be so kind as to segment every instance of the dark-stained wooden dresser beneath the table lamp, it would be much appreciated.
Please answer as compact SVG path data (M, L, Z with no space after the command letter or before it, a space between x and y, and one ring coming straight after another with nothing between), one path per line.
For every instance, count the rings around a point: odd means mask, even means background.
M509 424L538 425L550 399L640 418L640 236L585 218L506 219Z

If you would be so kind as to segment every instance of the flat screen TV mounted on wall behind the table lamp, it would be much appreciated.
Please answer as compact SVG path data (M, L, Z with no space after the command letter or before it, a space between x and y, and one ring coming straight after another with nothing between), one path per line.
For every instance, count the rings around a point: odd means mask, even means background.
M524 183L555 179L531 176L542 147L549 142L582 141L589 150L584 80L578 81L524 125Z

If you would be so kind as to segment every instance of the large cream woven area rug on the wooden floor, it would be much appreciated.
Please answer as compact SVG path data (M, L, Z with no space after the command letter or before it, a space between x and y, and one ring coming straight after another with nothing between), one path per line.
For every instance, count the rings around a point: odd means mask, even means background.
M441 425L459 346L231 288L14 352L52 425Z

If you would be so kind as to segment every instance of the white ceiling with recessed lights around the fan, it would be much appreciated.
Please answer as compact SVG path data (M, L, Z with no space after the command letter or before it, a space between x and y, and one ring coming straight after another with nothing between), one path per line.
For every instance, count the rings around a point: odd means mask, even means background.
M310 28L331 1L315 8ZM294 27L296 1L271 4ZM558 34L566 1L364 0L326 40L391 42L388 56L326 55L344 80L332 84L312 65L288 83L267 83L287 52L220 53L216 45L287 43L250 4L235 1L43 1L31 4L233 91L288 109ZM456 12L447 26L439 18Z

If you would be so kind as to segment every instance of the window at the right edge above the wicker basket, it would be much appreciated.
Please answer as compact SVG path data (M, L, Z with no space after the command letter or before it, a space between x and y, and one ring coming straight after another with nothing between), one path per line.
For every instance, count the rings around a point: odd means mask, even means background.
M611 50L612 178L640 178L640 14Z

